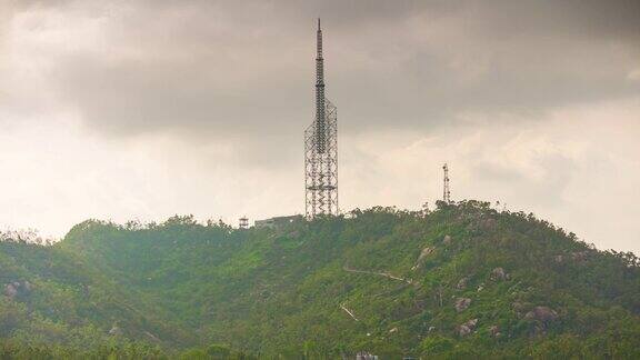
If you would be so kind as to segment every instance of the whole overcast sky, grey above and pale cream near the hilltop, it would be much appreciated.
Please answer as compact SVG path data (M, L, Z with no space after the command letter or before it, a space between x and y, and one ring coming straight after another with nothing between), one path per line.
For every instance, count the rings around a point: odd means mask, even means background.
M0 227L303 211L314 18L343 210L441 196L640 253L640 2L0 0Z

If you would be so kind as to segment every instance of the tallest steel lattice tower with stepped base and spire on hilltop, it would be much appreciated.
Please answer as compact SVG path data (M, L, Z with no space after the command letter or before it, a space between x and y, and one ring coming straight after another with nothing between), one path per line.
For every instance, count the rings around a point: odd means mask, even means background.
M318 19L316 119L304 130L304 213L338 214L338 113L324 97L322 29Z

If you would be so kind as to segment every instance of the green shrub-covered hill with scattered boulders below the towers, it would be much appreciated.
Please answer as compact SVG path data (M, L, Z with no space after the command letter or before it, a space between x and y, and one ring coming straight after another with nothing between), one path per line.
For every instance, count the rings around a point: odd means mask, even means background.
M0 243L0 281L4 357L640 358L636 256L477 201L278 229L86 221Z

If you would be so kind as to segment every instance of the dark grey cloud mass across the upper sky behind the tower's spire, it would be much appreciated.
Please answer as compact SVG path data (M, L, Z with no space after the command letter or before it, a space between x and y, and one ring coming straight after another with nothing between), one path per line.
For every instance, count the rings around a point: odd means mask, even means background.
M100 46L52 56L47 79L88 128L110 136L300 132L312 116L317 14L348 132L640 90L627 79L640 54L637 1L21 3L100 23Z

